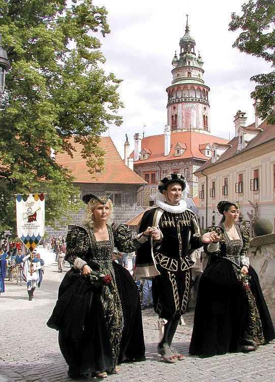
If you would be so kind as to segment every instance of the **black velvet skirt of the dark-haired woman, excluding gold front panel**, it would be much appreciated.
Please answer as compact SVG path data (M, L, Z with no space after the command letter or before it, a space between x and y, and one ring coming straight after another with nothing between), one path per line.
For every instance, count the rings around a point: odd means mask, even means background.
M267 343L275 338L273 324L258 275L252 266L249 267L249 276ZM247 296L237 283L232 263L212 256L199 281L190 354L211 357L241 351L246 344L247 313Z

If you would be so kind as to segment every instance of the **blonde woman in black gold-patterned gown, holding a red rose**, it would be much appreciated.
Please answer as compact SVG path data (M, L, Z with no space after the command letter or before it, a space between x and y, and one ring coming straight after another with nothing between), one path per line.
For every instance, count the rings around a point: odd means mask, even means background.
M125 225L110 224L110 196L84 195L87 210L82 225L67 236L66 260L73 264L59 287L48 321L59 330L59 346L79 377L116 373L117 364L144 360L140 299L130 272L112 261L114 246L132 252L150 235L148 228L132 239Z

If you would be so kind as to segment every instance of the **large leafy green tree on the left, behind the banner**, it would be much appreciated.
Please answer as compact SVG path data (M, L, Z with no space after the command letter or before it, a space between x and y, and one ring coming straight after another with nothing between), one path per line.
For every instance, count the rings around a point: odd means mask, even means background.
M92 0L68 7L65 0L0 0L0 34L12 63L0 102L0 231L15 226L12 194L47 192L46 224L78 208L69 201L79 194L71 173L50 156L72 156L72 135L91 173L104 165L100 134L108 122L121 124L123 107L120 80L99 67L106 16Z

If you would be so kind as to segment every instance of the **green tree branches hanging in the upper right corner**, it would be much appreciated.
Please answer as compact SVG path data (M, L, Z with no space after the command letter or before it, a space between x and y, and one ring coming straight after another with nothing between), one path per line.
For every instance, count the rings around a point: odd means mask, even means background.
M229 24L230 31L242 29L233 46L241 52L262 57L275 67L275 1L274 0L250 0L242 5L242 15L231 15ZM267 74L258 74L250 78L256 82L255 91L251 98L259 99L257 114L267 122L275 124L275 71Z

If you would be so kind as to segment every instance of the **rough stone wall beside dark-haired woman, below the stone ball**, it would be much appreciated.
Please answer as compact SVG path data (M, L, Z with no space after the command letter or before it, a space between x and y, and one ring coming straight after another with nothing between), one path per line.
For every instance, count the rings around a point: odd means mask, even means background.
M259 276L263 295L275 324L275 234L251 239L249 257Z

